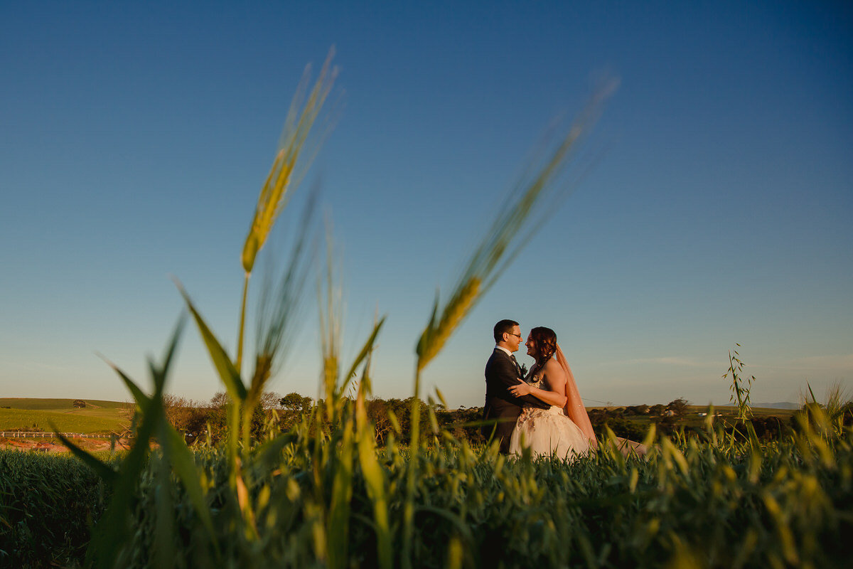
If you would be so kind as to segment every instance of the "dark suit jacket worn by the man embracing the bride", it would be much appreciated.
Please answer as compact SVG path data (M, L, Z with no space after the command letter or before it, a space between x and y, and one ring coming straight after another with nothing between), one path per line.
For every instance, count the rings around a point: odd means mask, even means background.
M509 438L513 434L515 420L521 414L522 404L531 404L540 409L548 409L550 405L532 395L517 398L509 392L509 388L519 381L519 369L507 352L495 348L485 364L485 407L483 419L497 420L496 425L485 425L483 436L489 440L493 436L501 441L501 452L509 452Z

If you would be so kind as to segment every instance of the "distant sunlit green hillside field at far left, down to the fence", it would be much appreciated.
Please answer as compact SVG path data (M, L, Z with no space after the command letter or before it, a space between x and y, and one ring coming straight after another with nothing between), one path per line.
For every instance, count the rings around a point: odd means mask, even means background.
M0 398L0 431L41 429L49 432L51 423L63 433L101 433L122 431L127 427L128 421L122 415L125 404L87 399L86 407L76 409L73 401Z

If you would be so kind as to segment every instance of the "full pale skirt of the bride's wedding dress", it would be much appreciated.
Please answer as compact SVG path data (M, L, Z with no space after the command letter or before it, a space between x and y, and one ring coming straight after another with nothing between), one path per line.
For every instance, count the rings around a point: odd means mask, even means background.
M537 409L525 405L515 421L509 452L520 455L523 448L529 448L532 456L572 458L587 453L589 438L566 416L562 407L552 405L548 409Z

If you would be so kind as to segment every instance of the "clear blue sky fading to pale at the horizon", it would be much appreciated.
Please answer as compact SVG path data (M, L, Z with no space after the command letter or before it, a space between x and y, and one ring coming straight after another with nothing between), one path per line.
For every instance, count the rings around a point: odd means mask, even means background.
M321 187L345 356L380 397L554 117L618 77L595 169L424 376L483 401L490 329L556 330L588 403L753 400L853 379L853 11L844 3L3 3L0 392L126 399L181 301L235 345L240 253L305 64L331 45ZM276 237L282 251L287 231ZM257 286L256 286L257 288ZM309 303L277 392L316 393ZM194 329L171 389L219 390ZM522 357L524 360L525 357Z

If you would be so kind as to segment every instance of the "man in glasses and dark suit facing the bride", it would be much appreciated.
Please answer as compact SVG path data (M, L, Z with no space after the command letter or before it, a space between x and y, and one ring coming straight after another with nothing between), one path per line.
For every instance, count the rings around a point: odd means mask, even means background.
M483 419L496 423L485 425L482 432L487 440L498 438L501 441L501 453L505 455L509 452L509 438L521 414L521 405L531 404L541 409L548 409L549 405L532 395L517 398L509 392L509 388L517 385L521 377L521 367L513 355L521 344L519 322L497 322L494 334L495 351L492 351L489 362L485 364Z

